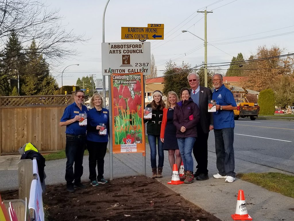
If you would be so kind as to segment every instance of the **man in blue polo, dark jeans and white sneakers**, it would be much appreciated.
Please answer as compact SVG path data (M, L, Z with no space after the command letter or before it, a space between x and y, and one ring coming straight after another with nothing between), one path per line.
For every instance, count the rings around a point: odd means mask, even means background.
M232 183L235 180L235 156L234 156L234 112L237 109L232 92L223 85L223 76L212 76L212 99L216 100L216 112L213 114L213 128L216 146L216 168L218 174L214 178L225 178L225 182Z

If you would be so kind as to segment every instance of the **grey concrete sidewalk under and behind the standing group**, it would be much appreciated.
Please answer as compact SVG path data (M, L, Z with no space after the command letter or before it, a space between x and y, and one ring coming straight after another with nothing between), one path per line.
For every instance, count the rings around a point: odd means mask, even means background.
M287 220L293 221L294 217L294 199L285 197L263 189L262 187L236 179L233 183L225 183L225 179L214 179L213 174L216 170L216 155L208 152L208 170L209 179L197 181L192 184L169 185L171 180L171 168L168 162L168 153L165 153L163 167L163 178L157 180L162 182L168 188L181 194L185 199L198 207L210 212L221 220L232 220L231 214L235 213L238 190L243 189L247 204L248 214L255 221L268 220ZM5 189L18 188L17 163L20 155L0 156L0 191ZM65 163L66 159L47 161L45 171L47 174L46 184L65 183ZM194 167L196 162L194 162ZM88 179L88 156L84 157L83 182L89 182ZM253 164L247 161L235 159L235 172L281 172L270 167ZM143 172L142 154L114 154L113 155L113 177L136 176ZM146 145L146 172L151 176L150 149ZM109 154L105 157L105 174L109 179Z

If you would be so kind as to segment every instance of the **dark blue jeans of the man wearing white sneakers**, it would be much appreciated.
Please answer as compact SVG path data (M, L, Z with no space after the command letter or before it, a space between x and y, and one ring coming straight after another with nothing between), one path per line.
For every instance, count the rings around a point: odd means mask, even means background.
M216 168L221 176L235 177L234 128L214 129Z

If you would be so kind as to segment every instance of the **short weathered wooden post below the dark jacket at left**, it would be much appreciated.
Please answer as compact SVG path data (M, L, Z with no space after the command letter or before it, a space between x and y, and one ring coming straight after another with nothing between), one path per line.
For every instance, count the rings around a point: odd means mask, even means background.
M20 160L18 163L19 174L19 199L30 199L31 183L33 180L33 161L31 159Z

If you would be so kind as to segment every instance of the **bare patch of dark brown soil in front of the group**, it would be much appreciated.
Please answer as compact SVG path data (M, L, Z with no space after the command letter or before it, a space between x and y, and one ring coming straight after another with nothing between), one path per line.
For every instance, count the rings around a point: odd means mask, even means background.
M1 197L16 199L18 191L1 192ZM221 221L145 176L118 178L97 187L87 185L74 193L62 184L47 186L43 202L52 221Z

